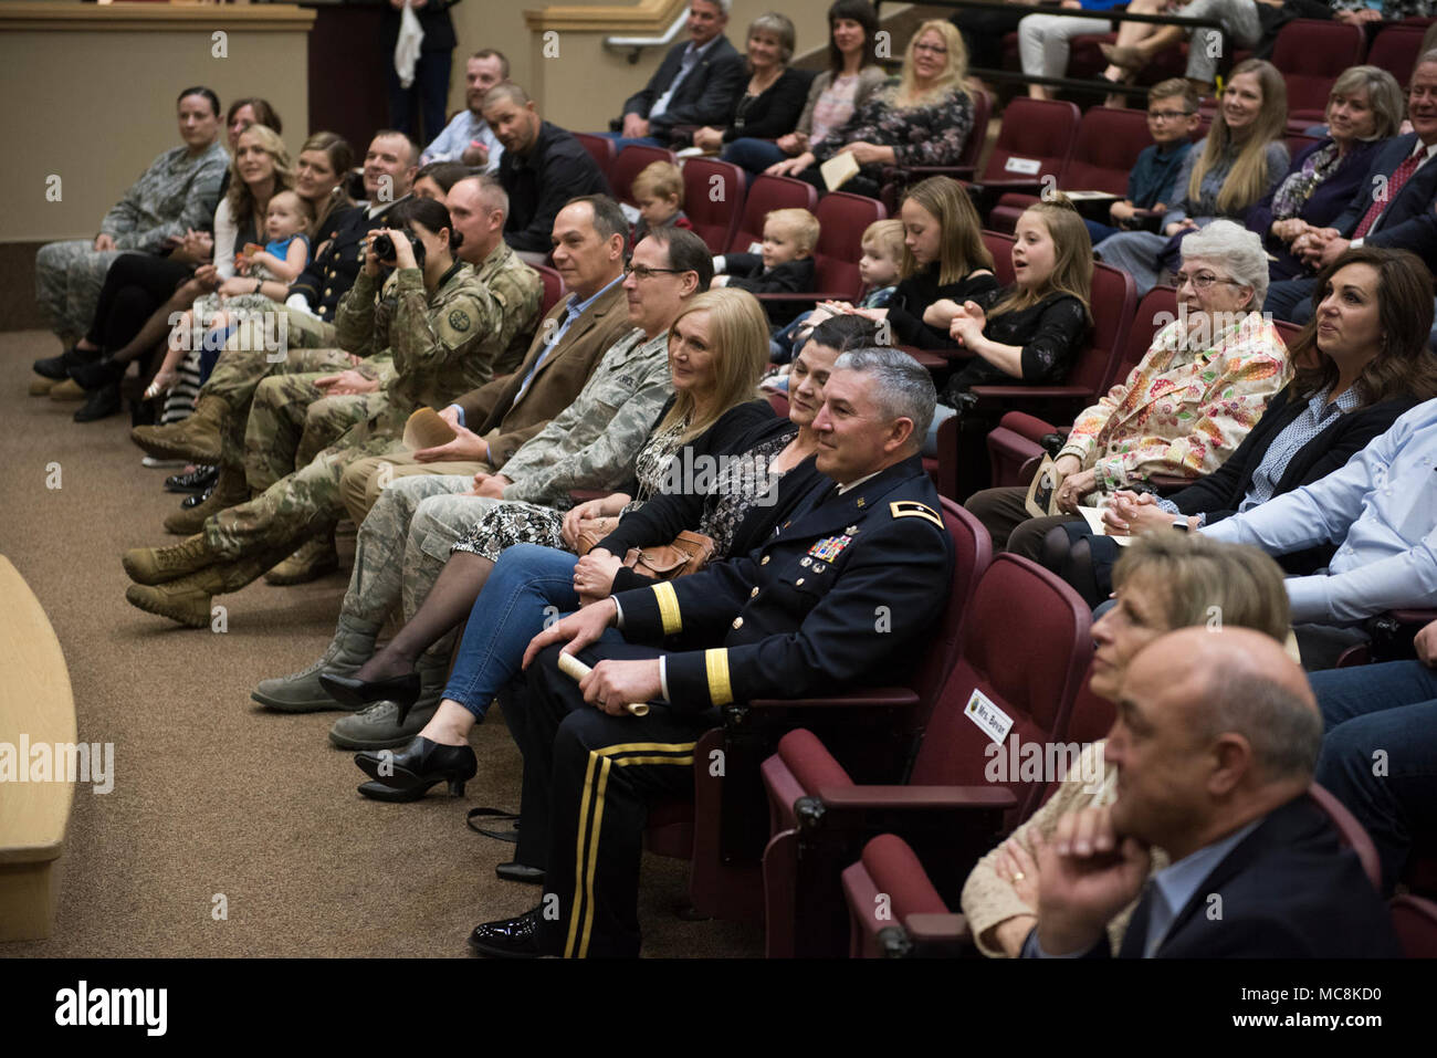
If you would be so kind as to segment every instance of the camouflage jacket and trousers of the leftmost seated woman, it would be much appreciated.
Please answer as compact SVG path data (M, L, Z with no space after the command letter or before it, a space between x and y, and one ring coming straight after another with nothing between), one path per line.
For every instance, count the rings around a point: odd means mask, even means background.
M66 345L89 331L99 289L115 257L125 252L160 253L170 236L214 226L220 181L228 164L230 155L220 139L198 155L185 147L165 151L101 221L101 233L112 236L116 249L96 250L93 239L40 247L34 257L34 299Z

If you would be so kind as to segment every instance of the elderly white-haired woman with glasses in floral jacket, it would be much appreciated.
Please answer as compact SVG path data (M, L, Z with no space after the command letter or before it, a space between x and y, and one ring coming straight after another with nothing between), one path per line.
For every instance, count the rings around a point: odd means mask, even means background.
M1127 381L1083 411L1053 464L1063 515L1029 518L1026 489L987 489L967 507L996 548L1038 558L1043 536L1088 497L1152 474L1217 470L1292 375L1288 349L1259 309L1262 240L1229 220L1183 240L1178 318L1158 329Z

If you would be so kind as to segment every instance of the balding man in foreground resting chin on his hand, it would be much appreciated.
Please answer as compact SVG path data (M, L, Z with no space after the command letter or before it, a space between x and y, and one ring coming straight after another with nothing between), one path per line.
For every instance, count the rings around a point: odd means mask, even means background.
M1118 796L1065 816L1039 854L1023 954L1395 957L1387 908L1306 795L1322 719L1302 670L1244 628L1183 628L1132 660L1108 733ZM1171 857L1147 887L1150 848Z

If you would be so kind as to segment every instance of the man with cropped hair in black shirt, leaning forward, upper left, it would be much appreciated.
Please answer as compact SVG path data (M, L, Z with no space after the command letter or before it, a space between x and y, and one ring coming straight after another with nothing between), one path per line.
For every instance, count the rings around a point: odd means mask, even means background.
M504 242L532 264L549 253L553 218L570 198L609 193L583 144L568 129L539 116L529 93L512 80L494 85L484 96L484 121L504 147L499 183L509 193Z

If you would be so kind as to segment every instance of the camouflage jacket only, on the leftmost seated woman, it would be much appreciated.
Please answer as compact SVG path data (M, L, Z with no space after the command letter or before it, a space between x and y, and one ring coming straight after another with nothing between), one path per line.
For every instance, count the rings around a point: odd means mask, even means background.
M211 230L228 165L220 139L198 155L184 147L165 151L105 214L99 230L115 239L116 249L147 253L160 253L165 239L182 236L185 229Z

